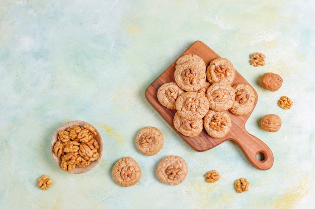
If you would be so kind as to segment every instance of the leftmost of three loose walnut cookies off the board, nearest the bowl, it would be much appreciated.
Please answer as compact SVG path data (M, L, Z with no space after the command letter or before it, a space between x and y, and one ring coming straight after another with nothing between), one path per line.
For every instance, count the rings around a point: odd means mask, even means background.
M112 175L116 183L121 186L132 186L141 178L141 169L131 157L123 157L116 162Z

